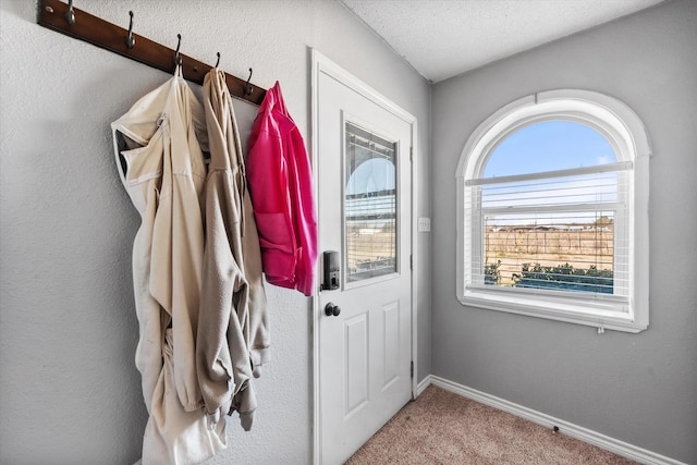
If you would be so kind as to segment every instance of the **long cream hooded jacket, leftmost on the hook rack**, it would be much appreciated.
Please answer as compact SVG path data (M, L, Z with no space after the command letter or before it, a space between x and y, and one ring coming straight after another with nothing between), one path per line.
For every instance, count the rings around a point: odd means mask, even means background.
M150 415L143 464L200 463L225 448L224 421L213 429L206 421L194 345L204 257L204 109L175 75L111 126L121 181L142 217L133 279L135 360Z

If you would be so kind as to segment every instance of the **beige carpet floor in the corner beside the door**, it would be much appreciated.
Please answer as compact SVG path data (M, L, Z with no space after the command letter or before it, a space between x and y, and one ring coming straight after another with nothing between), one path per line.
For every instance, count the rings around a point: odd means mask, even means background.
M346 462L633 464L624 457L430 386Z

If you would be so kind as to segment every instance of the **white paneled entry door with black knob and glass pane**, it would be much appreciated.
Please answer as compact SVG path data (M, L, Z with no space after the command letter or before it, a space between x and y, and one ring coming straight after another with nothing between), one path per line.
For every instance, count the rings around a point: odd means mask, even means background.
M321 71L316 85L316 462L333 465L412 397L413 122Z

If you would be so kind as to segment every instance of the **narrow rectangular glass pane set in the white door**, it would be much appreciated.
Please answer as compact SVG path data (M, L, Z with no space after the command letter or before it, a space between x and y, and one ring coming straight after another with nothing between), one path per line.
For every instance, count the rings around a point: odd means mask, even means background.
M346 283L396 273L396 143L345 123Z

